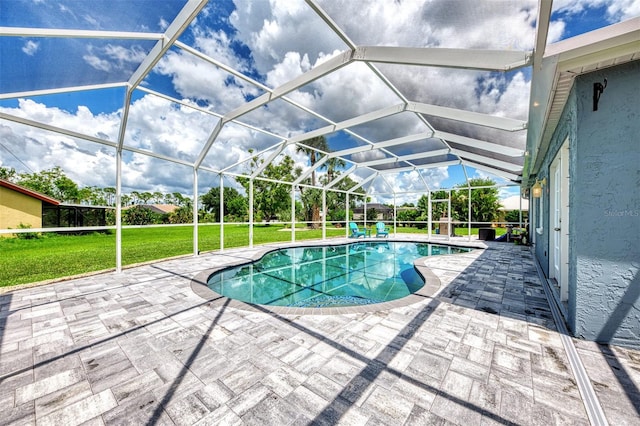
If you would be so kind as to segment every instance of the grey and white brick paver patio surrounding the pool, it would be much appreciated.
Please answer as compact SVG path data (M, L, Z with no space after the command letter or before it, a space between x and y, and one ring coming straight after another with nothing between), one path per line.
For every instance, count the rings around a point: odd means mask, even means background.
M527 247L429 258L440 293L381 311L192 290L264 248L0 295L0 423L589 424ZM640 424L640 352L573 341L608 422Z

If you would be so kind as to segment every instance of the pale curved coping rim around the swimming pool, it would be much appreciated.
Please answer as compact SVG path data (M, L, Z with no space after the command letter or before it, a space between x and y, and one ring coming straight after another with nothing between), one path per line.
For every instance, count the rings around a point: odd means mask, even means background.
M346 241L345 241L346 240ZM325 240L325 241L306 241L306 242L298 242L298 243L284 243L282 245L275 245L265 247L263 249L259 249L252 256L249 257L249 260L246 258L242 261L237 262L229 262L222 266L217 266L214 268L208 268L203 271L200 271L191 279L191 290L199 297L208 300L210 304L213 306L226 305L227 307L241 309L245 311L253 311L253 312L270 312L277 315L336 315L336 314L358 314L358 313L366 313L366 312L375 312L380 310L387 310L392 308L399 308L403 306L413 305L414 303L418 303L424 301L425 299L432 298L436 295L441 288L440 279L425 265L425 260L429 259L430 256L423 256L415 259L413 261L413 266L416 268L418 274L424 279L424 285L417 290L416 292L402 297L400 299L391 300L388 302L382 303L371 303L367 305L358 305L358 306L340 306L340 307L328 307L328 308L302 308L302 307L290 307L290 306L269 306L269 305L259 305L248 302L243 302L237 299L231 299L227 296L224 296L220 293L217 293L211 290L207 286L208 278L219 271L232 268L238 265L245 265L250 262L254 262L269 252L280 250L283 248L297 248L297 247L322 247L328 245L348 245L352 244L354 241L362 241L362 242L381 242L380 239L374 238L365 238L362 240L353 240L353 239L343 239L340 242L336 240ZM477 242L474 244L471 242L470 244L465 244L462 242L456 242L454 244L448 244L447 242L441 241L418 241L418 240L404 240L404 239L395 239L395 238L385 238L384 241L390 242L405 242L405 243L427 243L427 244L437 244L442 246L449 247L464 247L470 249L484 250L487 248L485 244L478 244ZM465 255L466 253L453 253L453 254L441 254L440 256L458 256ZM433 257L433 256L431 256Z

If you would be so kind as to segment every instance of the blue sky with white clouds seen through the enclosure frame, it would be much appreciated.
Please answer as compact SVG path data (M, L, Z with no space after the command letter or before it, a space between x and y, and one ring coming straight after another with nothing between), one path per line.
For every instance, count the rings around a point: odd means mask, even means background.
M0 26L162 33L184 3L3 0ZM360 1L318 3L356 45L531 50L535 43L537 2L531 0L387 0L368 2L366 7ZM555 1L548 42L639 15L640 0ZM182 49L170 49L142 82L143 90L133 93L125 145L187 163L197 160L218 122L211 113L227 113L265 93L265 87L278 87L348 48L302 0L210 2L179 40L223 66L216 67ZM154 44L150 40L0 37L0 94L118 84L128 80ZM224 66L246 78L229 74ZM527 68L507 74L391 64L380 64L378 69L410 101L527 119L531 79ZM185 100L210 113L171 103L145 90ZM0 112L114 142L124 93L124 87L116 86L18 96L0 100ZM337 122L401 102L370 68L358 62L289 93L288 98ZM241 121L243 124L223 127L203 165L221 170L246 159L250 148L261 151L281 138L327 124L284 100L258 108ZM442 120L437 124L445 129L457 126ZM408 131L423 132L425 125L414 114L402 113L354 130L371 141L383 141ZM464 132L471 137L479 134L472 128ZM525 135L497 137L501 144L517 147L523 146ZM364 144L345 132L327 138L332 150ZM294 149L285 153L303 169L309 166L305 156ZM381 155L360 153L354 159L373 160ZM188 166L132 152L125 152L123 162L124 192L193 193L193 171ZM0 166L13 167L19 173L60 166L80 186L115 186L113 148L3 119ZM246 165L230 171L246 171ZM424 191L424 182L431 189L449 188L465 180L460 166L420 173L376 179L370 192L376 201L389 202L392 191ZM469 167L467 173L470 178L491 177L507 183L479 169ZM351 177L359 181L366 176L358 171ZM204 193L218 185L219 176L203 171L198 182L199 192ZM225 185L235 183L228 178ZM518 189L502 188L500 192L507 197L517 194ZM399 195L396 201L414 202L420 195Z

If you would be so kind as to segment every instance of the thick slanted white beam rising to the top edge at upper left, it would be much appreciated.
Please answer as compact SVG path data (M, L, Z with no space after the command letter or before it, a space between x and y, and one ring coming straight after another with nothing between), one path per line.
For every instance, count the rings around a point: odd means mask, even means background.
M138 69L129 78L129 85L135 89L140 82L151 72L160 58L169 50L173 43L187 29L200 11L207 5L208 0L189 0L171 22L165 31L163 38L151 49L146 58L138 66Z

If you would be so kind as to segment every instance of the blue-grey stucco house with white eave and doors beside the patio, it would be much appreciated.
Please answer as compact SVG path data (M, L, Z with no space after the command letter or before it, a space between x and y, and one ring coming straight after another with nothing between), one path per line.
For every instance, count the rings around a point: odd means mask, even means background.
M523 182L535 256L574 336L640 348L640 52L563 43L530 113L546 117Z

